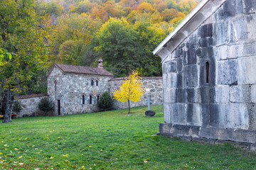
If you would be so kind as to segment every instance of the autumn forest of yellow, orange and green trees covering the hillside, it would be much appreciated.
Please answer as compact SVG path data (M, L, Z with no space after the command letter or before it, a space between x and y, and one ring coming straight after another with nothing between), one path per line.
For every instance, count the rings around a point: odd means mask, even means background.
M199 1L1 1L1 86L42 93L54 62L97 67L99 59L117 77L161 76L152 51Z

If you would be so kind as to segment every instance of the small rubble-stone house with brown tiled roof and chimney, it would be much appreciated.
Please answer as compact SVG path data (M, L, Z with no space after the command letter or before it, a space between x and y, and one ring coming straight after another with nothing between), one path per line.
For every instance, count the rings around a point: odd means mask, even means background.
M97 101L108 91L114 77L102 66L82 67L54 64L48 73L48 95L55 106L55 115L98 111Z

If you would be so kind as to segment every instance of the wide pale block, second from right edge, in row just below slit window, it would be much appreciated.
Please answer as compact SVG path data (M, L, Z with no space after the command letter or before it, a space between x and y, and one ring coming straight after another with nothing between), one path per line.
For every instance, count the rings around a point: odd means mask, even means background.
M230 86L231 103L251 103L251 86Z

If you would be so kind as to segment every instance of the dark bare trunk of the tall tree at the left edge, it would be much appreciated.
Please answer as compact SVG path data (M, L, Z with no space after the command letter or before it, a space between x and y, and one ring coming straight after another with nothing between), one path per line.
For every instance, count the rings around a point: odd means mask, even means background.
M4 90L3 98L3 113L4 120L3 123L11 122L11 111L14 104L14 92L11 91L11 88L8 87L7 90Z

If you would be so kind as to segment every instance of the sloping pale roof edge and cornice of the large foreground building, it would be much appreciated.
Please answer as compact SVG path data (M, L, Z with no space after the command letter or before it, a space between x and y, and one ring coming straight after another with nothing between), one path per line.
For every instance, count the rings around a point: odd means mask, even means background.
M154 55L166 46L168 42L171 43L171 52L196 28L206 21L226 0L202 0L196 8L159 44L153 51ZM169 51L170 51L169 50ZM163 59L162 59L163 60Z

